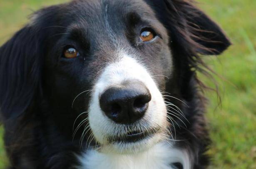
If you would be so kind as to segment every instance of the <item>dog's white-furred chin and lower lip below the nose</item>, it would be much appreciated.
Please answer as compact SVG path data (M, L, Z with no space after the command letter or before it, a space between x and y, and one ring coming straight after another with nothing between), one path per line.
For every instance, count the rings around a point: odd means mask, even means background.
M102 152L118 154L135 154L144 152L161 140L161 133L134 133L115 138L102 147Z

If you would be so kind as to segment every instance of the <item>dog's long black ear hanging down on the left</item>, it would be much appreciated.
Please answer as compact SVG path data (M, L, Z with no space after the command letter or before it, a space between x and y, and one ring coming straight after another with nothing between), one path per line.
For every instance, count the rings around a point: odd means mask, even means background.
M38 10L31 22L0 47L0 115L20 116L40 99L42 66L49 41L57 27L60 5ZM52 40L52 39L51 39Z

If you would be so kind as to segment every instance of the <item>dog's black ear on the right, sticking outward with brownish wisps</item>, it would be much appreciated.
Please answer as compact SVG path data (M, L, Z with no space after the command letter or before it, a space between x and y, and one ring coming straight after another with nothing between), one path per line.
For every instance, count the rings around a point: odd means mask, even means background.
M193 0L149 0L155 3L157 15L170 31L170 36L193 52L219 55L230 46L222 29L204 12L193 5ZM186 50L191 50L187 49Z

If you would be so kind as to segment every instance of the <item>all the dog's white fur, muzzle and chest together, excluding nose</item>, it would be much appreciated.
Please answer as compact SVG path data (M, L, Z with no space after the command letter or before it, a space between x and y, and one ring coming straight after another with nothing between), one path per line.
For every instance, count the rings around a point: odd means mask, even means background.
M110 63L102 72L94 86L89 103L89 125L100 149L90 149L79 156L81 163L77 169L174 169L171 163L180 162L184 169L190 169L189 154L164 142L167 128L167 110L161 92L150 72L134 56L120 53L117 61ZM155 135L137 142L108 142L112 135L127 133L127 126L109 119L99 106L101 94L124 81L139 80L149 89L152 100L142 119L134 123L135 128L147 130L161 126Z

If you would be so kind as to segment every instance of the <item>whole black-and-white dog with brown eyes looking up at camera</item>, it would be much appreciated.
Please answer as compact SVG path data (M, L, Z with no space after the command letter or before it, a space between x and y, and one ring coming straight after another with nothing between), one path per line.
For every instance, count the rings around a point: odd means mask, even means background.
M0 48L10 169L204 169L202 55L230 45L191 0L45 7Z

